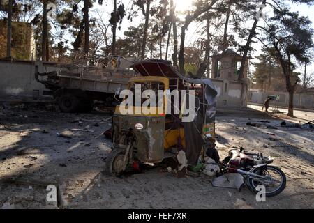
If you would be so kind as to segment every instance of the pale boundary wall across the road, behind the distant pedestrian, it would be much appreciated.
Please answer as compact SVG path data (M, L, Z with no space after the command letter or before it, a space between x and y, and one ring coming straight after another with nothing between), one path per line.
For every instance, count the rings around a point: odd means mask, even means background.
M287 92L257 92L248 91L248 102L255 104L264 104L268 95L280 95L280 100L278 101L278 106L287 107L289 105L289 93ZM274 102L271 102L273 105ZM293 98L294 107L304 108L304 109L314 109L314 94L312 93L294 93Z

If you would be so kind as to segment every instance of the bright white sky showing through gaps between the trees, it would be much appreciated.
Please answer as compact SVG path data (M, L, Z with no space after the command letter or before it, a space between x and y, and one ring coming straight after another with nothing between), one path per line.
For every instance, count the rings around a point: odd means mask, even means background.
M126 10L128 10L128 8L130 7L129 5L129 0L121 0L124 3L124 6L126 7ZM118 1L119 2L119 1ZM176 10L179 13L179 15L181 15L181 17L184 17L184 11L192 8L192 3L193 0L174 0L174 4L176 5ZM270 6L268 6L270 8ZM103 4L103 6L99 6L98 4L95 4L94 6L94 10L98 10L102 13L104 13L104 17L109 17L111 11L112 11L112 7L110 5L106 5ZM307 6L306 4L303 5L296 5L296 4L292 4L291 5L291 10L292 11L299 11L300 15L303 16L307 16L309 17L309 19L313 22L312 26L314 29L314 6ZM267 8L265 8L265 11L267 13ZM128 26L135 26L135 24L140 24L142 22L144 22L144 17L142 16L142 13L139 13L139 17L135 18L135 20L133 20L133 22L129 22L128 20L124 19L123 21L123 25L121 26L121 30L117 30L117 37L118 38L122 38L124 36L124 31L126 31L128 29ZM249 28L250 26L248 26ZM193 26L193 24L191 24L188 28L188 31L186 32L186 45L190 45L193 44L193 41L195 41L196 35L195 35L195 31L196 31L197 27ZM231 33L231 31L230 31ZM260 49L262 47L262 45L260 43L255 43L253 45L253 47L256 49L255 52L253 52L252 56L254 58L254 56L257 56L260 54ZM251 62L257 62L256 59L253 59ZM299 72L303 72L304 68L299 68ZM254 66L251 66L251 70L254 70ZM311 64L310 66L308 66L308 72L314 72L314 63Z

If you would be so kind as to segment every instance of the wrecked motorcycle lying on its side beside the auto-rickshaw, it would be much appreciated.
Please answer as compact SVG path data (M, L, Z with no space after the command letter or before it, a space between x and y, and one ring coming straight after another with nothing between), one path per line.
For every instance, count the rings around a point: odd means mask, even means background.
M214 144L211 144L207 148L207 155L217 162L219 159L217 154ZM265 196L273 197L283 192L287 179L281 169L269 165L272 162L274 160L262 153L246 153L243 148L232 149L222 162L217 162L220 167L218 176L230 173L241 174L244 178L241 187L246 185L250 190L258 193L261 192L260 186L263 186L262 192Z

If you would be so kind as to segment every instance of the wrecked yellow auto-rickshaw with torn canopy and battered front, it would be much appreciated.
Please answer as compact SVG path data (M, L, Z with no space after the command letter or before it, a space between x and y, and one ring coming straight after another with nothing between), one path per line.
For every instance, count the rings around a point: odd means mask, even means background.
M214 84L210 79L184 77L167 61L140 61L133 69L140 76L130 79L127 92L132 94L115 109L106 173L119 176L127 167L157 164L165 157L175 157L179 151L184 151L186 165L196 165L204 135L215 141ZM179 93L179 97L173 92ZM161 97L154 98L152 93ZM130 105L126 98L139 103ZM143 109L145 103L149 112ZM188 113L184 108L188 108Z

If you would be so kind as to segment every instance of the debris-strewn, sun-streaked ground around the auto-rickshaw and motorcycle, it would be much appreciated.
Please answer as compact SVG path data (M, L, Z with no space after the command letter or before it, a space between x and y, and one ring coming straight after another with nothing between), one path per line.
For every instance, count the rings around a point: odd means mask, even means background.
M305 114L302 122L313 116ZM101 112L61 114L49 104L0 107L0 208L314 208L313 130L246 126L265 120L279 125L285 117L256 108L218 111L220 157L242 146L274 157L287 175L286 189L261 203L247 188L212 187L203 174L179 179L163 167L105 176L111 142L102 133L110 118ZM59 188L59 203L45 201L51 184Z

